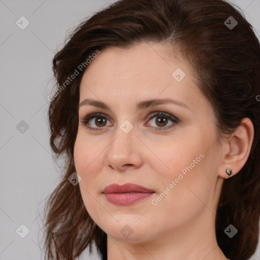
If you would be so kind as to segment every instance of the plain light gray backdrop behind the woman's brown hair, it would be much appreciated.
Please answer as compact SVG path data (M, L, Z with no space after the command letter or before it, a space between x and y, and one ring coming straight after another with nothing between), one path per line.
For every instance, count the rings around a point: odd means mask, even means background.
M47 122L52 58L73 26L113 2L0 0L2 260L43 259L39 232L43 225L44 199L59 182L59 169L49 147ZM244 10L260 38L260 0L230 2ZM16 25L21 16L29 21L24 30ZM20 129L24 133L17 129L22 120L29 126L27 130ZM24 122L20 124L22 127ZM19 228L21 224L29 229L24 238L18 236L25 234L25 229ZM86 252L84 259L94 260L98 256L87 255ZM259 243L251 259L260 259Z

